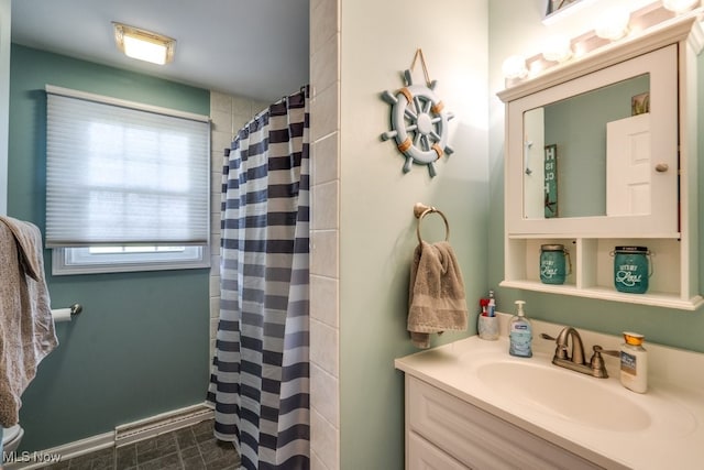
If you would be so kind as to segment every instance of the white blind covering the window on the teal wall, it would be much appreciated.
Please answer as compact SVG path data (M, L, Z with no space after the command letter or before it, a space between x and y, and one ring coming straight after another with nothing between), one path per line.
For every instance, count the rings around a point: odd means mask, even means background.
M46 87L46 245L207 244L207 117Z

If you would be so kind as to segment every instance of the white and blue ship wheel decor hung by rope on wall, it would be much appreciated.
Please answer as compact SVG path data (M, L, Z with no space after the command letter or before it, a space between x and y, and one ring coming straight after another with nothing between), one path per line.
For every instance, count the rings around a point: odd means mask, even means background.
M415 85L411 72L420 56L427 86ZM416 51L411 68L404 73L406 86L396 95L386 90L382 99L392 106L392 130L382 134L382 140L394 139L400 153L406 156L404 173L410 172L414 163L428 165L430 176L436 176L433 162L453 151L448 145L448 122L454 117L444 110L442 101L435 92L437 80L430 81L422 57L422 51Z

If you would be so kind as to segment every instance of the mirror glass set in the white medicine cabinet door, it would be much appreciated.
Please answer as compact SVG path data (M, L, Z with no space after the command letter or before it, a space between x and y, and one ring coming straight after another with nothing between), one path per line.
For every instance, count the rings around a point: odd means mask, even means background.
M524 217L649 214L649 97L642 74L524 112Z

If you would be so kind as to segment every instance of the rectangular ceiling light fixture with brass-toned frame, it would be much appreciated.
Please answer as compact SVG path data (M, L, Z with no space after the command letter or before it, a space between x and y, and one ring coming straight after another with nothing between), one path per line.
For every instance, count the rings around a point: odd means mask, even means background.
M176 40L113 22L114 42L128 57L164 65L174 59Z

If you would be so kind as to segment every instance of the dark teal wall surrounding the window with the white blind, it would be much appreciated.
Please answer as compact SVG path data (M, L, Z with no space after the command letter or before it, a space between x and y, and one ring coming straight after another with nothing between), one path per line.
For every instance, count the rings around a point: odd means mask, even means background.
M200 114L208 90L19 45L11 51L8 215L44 228L46 84ZM79 171L79 170L78 170ZM208 384L209 270L51 276L61 342L23 395L21 450L111 431L202 403Z

